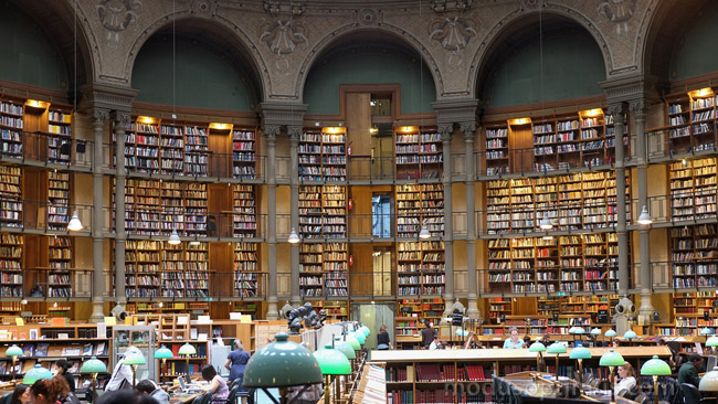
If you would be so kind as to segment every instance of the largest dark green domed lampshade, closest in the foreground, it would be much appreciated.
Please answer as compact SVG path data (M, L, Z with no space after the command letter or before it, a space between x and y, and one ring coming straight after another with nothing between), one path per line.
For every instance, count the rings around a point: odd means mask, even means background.
M277 333L250 358L244 370L243 386L288 387L321 383L321 368L308 349L288 341L289 336Z

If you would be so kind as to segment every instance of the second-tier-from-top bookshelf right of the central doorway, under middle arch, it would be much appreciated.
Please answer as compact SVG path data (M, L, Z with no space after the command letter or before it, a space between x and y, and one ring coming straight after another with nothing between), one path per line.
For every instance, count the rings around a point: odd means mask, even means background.
M415 238L422 223L432 236L444 235L442 184L399 184L395 189L397 237Z

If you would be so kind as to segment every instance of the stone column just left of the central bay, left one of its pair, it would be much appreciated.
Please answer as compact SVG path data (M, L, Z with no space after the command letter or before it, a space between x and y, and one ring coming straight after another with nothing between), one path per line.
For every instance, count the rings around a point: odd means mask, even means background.
M278 320L277 311L277 179L275 170L276 143L279 127L276 125L265 126L264 134L267 143L267 249L268 256L268 279L267 279L267 320Z

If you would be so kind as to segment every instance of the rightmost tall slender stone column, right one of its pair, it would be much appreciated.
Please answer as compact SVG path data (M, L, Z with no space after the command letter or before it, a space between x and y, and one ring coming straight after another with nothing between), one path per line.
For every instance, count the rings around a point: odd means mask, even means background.
M630 104L635 118L635 135L636 135L636 162L638 173L638 206L634 216L641 214L643 206L648 206L648 178L646 170L648 168L647 149L646 149L646 132L645 132L645 106L644 100L638 99ZM648 211L651 213L651 211ZM651 323L653 321L653 304L651 301L651 227L642 225L638 231L640 247L641 247L641 275L638 277L641 285L641 308L638 309L638 322Z

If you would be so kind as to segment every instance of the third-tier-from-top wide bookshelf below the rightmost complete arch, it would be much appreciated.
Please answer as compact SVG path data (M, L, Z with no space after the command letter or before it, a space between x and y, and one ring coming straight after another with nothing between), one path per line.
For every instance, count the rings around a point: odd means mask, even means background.
M617 235L488 241L488 286L495 293L608 291L616 288Z

